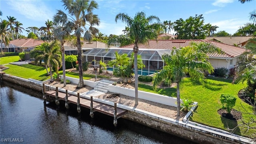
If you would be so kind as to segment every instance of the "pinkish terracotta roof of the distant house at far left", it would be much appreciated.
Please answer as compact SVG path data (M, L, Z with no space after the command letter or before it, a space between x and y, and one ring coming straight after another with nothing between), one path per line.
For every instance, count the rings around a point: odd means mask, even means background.
M31 48L44 43L42 40L34 40L32 38L21 38L10 41L10 44L14 44L20 48Z

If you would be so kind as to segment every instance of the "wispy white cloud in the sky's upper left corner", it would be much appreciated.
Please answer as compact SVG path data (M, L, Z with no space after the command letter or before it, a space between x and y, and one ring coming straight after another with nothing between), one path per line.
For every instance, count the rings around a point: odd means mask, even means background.
M24 15L26 18L45 22L52 20L52 12L47 6L39 0L9 0L7 4L10 8L19 14Z

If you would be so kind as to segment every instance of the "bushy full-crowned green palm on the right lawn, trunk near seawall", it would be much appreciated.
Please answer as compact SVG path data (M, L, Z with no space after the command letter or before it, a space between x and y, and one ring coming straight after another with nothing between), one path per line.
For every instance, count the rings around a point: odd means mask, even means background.
M164 54L162 56L166 65L153 77L153 86L156 90L156 86L166 78L172 78L173 82L177 83L177 116L180 116L180 82L185 74L188 73L190 78L204 84L204 70L209 73L214 71L206 52L221 51L208 43L192 42L191 46L180 49L174 48L170 55Z

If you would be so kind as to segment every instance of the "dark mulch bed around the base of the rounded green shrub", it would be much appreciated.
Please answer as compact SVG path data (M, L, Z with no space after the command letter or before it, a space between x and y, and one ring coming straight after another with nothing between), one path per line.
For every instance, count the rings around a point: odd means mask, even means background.
M220 109L218 110L218 114L222 116L223 118L227 118L229 120L240 120L242 118L241 112L238 112L234 109L231 110L230 114L226 109Z

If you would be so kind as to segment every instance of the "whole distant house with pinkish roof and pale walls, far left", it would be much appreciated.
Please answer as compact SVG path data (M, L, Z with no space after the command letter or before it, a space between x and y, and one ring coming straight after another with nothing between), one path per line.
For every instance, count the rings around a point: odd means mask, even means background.
M32 48L34 46L38 46L42 43L44 43L44 41L42 40L34 40L32 38L20 38L10 41L8 48L6 46L2 46L2 50L3 52L24 52L24 50Z

